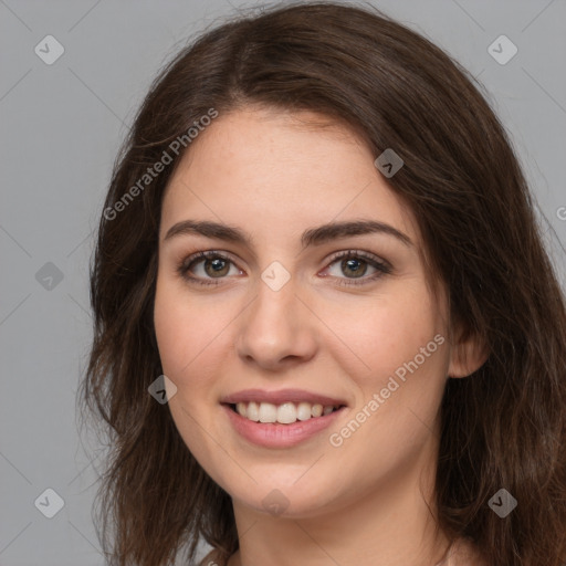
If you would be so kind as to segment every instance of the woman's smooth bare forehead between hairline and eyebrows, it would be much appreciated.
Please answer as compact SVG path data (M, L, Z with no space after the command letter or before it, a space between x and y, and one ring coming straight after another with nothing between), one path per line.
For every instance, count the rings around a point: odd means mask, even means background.
M411 212L375 158L352 129L317 114L247 108L220 115L169 181L160 235L190 214L282 240L305 227L364 218L418 240Z

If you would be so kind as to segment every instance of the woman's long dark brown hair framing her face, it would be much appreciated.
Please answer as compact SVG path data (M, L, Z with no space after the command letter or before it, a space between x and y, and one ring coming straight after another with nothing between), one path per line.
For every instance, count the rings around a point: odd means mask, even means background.
M565 297L517 158L481 91L428 40L352 3L240 15L161 70L116 159L91 265L94 339L80 394L83 413L109 432L97 501L111 564L160 566L184 546L193 560L199 539L223 556L238 548L229 494L148 387L163 373L153 305L164 190L190 151L189 128L211 108L222 116L250 104L322 113L376 157L394 148L402 158L388 182L418 219L451 322L490 348L472 376L447 381L439 526L471 538L492 564L564 564ZM172 163L148 181L164 151ZM489 505L501 489L517 501L504 518Z

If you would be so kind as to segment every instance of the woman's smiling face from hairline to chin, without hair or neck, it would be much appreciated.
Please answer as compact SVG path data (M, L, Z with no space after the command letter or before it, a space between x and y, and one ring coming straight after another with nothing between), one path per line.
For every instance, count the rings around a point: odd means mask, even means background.
M172 418L207 473L234 504L315 516L434 461L454 367L444 295L377 156L296 117L221 114L192 142L163 203L155 327ZM240 392L247 417L224 403ZM342 409L308 419L317 405Z

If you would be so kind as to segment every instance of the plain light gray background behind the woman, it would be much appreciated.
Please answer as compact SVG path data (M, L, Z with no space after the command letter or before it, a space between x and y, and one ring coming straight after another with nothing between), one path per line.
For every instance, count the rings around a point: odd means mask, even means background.
M373 3L485 85L564 283L565 0ZM119 143L158 69L188 38L253 4L0 0L1 566L104 564L91 520L102 452L95 439L84 442L87 432L80 437L75 415L91 339L93 230ZM34 52L48 34L65 50L51 65ZM501 34L518 49L504 65L488 52ZM48 488L64 500L53 518L34 505Z

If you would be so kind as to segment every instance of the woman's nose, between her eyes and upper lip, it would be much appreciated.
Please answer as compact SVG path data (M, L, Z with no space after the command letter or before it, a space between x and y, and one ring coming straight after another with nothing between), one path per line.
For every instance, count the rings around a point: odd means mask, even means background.
M277 291L259 282L258 294L239 317L235 347L245 364L274 371L315 356L318 318L297 291L293 279Z

